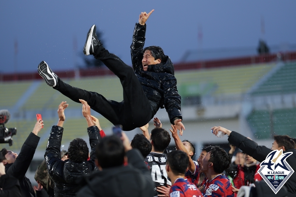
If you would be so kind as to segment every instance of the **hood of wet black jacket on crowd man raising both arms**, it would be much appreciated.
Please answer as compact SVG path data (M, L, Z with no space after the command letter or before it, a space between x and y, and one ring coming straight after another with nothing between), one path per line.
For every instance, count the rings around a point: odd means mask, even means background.
M92 172L93 165L90 162L75 163L68 160L65 162L63 175L64 179L69 184L76 184L76 181L81 175Z

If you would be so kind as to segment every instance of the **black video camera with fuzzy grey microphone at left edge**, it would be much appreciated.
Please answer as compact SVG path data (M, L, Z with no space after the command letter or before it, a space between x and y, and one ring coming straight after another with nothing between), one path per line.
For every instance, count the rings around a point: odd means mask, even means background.
M0 143L9 143L12 146L12 135L17 134L17 128L7 128L4 126L10 118L10 113L7 109L0 110Z

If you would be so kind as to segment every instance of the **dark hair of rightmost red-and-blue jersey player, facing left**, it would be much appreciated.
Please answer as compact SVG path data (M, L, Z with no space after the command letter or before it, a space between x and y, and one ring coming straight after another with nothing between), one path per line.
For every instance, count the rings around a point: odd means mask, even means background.
M224 149L214 146L210 154L209 162L213 163L213 169L217 174L222 173L229 167L231 160Z

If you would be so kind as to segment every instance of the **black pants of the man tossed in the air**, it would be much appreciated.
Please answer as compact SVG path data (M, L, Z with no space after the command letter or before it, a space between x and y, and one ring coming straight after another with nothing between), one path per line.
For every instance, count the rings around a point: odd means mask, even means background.
M94 51L95 58L101 60L120 79L123 88L122 102L107 100L96 92L72 87L60 79L59 87L54 89L77 103L80 103L79 99L85 100L91 109L102 114L113 125L122 125L125 131L146 125L153 113L133 68L102 46L96 47Z

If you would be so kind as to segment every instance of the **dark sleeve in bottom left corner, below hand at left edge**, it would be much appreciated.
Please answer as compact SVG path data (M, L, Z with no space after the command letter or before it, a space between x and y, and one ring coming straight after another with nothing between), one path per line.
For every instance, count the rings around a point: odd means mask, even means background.
M17 178L10 175L2 175L0 178L2 190L0 189L1 197L21 197L20 183Z

